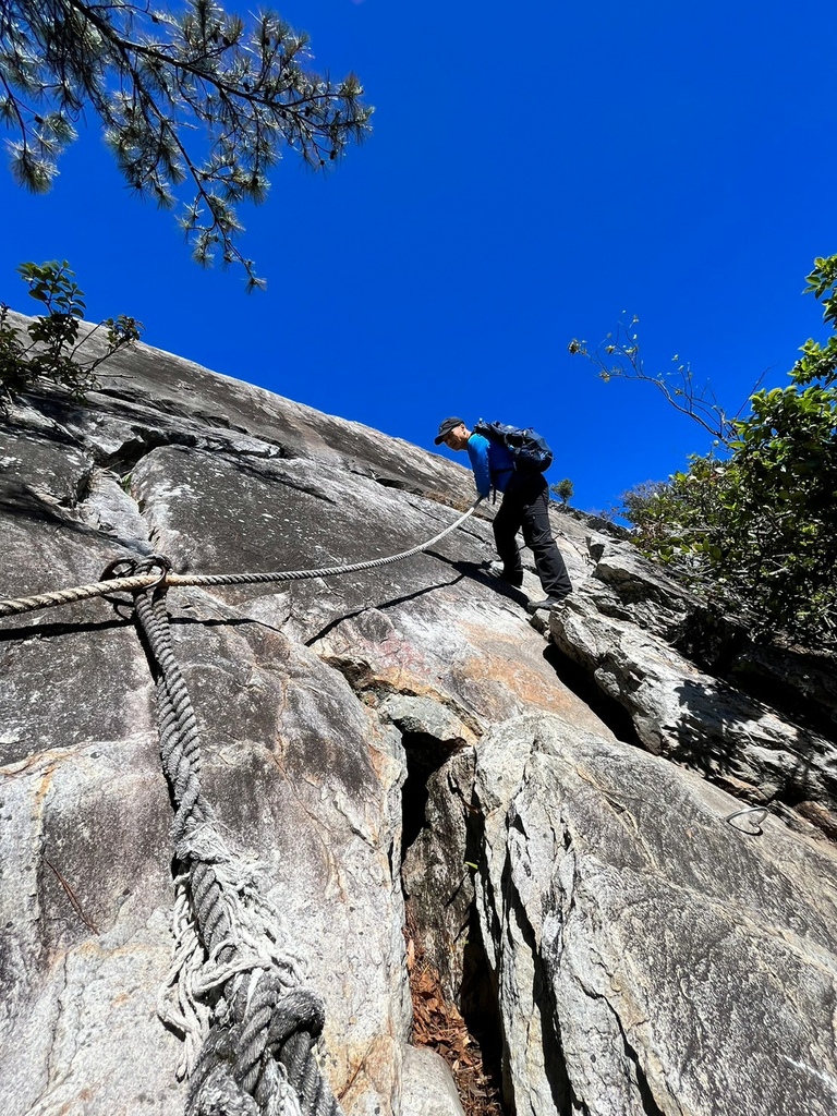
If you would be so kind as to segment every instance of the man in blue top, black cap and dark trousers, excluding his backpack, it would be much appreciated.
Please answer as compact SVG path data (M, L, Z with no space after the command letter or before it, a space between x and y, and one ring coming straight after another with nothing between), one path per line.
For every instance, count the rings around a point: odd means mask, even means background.
M439 427L435 444L450 450L466 450L482 497L492 489L503 493L494 517L494 542L500 556L499 576L509 585L523 583L523 566L517 545L522 529L523 540L535 555L535 566L546 597L530 600L530 613L539 608L557 608L573 591L567 567L552 538L549 526L549 497L546 478L537 469L517 468L511 451L496 437L470 431L462 419L445 419Z

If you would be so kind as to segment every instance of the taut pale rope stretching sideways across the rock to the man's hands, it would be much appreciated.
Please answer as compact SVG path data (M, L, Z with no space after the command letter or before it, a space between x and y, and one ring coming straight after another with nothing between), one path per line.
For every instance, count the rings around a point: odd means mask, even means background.
M107 580L96 581L92 585L78 585L71 589L57 589L54 593L45 593L33 597L18 597L8 600L0 600L0 618L4 616L18 616L21 613L31 613L38 608L55 608L58 605L70 605L77 600L88 600L90 597L105 597L112 593L136 593L140 589L147 589L152 586L163 584L174 585L268 585L273 581L302 581L314 577L337 577L341 574L358 574L365 569L377 569L381 566L391 566L393 562L403 561L414 555L422 554L434 543L439 542L454 531L461 523L472 516L477 506L482 500L479 497L455 522L445 527L432 539L422 542L410 550L403 550L397 555L389 555L386 558L373 558L369 561L358 561L350 566L327 566L321 569L286 569L272 574L174 574L165 573L164 577L158 574L136 574L127 577L110 577ZM127 562L115 562L108 569L118 569Z

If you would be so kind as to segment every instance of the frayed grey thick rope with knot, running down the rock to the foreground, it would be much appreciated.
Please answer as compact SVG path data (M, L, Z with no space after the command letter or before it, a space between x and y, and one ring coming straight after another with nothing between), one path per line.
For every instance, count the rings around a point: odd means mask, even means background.
M227 847L201 789L198 727L174 657L165 586L137 593L135 614L154 675L160 752L175 806L172 836L184 868L167 983L177 989L181 1011L162 1014L191 1036L192 1047L195 1031L203 1039L196 1058L187 1051L185 1114L339 1116L314 1054L323 1001L302 985L299 960L280 950L278 913Z

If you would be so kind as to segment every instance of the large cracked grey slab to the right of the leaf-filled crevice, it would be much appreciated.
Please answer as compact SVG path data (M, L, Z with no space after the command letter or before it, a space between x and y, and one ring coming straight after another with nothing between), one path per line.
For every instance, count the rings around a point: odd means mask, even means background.
M834 1110L830 850L557 718L485 737L475 796L518 1113Z

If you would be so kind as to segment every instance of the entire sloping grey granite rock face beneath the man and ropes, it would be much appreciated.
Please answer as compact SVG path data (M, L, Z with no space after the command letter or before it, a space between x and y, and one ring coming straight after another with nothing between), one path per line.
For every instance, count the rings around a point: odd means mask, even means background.
M354 564L472 500L453 462L147 346L104 368L86 405L45 387L2 416L2 598L152 552ZM531 620L531 564L522 590L485 574L491 514L375 570L169 590L204 792L325 1000L341 1107L456 1112L408 1045L406 896L509 1110L834 1110L828 671L719 651L557 511L576 593ZM0 620L0 656L3 1112L174 1116L172 807L131 602ZM724 820L748 804L761 836Z

